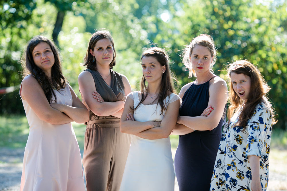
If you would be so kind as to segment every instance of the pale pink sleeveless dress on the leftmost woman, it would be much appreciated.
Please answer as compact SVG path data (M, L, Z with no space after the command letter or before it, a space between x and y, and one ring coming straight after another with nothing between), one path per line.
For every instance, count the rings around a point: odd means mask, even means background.
M72 106L69 86L55 91L55 94L57 103ZM30 132L24 152L20 191L84 191L81 154L72 124L46 123L25 100L22 99L22 103Z

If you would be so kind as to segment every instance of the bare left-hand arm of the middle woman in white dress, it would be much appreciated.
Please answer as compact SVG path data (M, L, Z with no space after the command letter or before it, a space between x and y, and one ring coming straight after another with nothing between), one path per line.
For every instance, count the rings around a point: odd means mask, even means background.
M155 121L140 122L127 120L127 115L129 115L129 113L133 115L133 110L131 108L133 108L133 99L127 97L120 121L120 130L122 133L135 135L141 131L156 127L158 125L158 122Z

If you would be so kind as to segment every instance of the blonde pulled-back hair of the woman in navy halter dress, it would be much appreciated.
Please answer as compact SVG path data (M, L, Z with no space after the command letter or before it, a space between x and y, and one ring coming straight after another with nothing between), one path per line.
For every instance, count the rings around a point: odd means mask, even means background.
M215 61L216 61L217 51L215 49L215 45L214 45L214 41L212 37L208 34L198 35L191 41L189 45L186 46L185 49L183 49L183 53L181 54L181 57L183 57L183 64L185 65L186 68L189 69L188 77L192 77L192 75L196 76L195 71L193 70L190 59L189 59L191 57L193 48L196 45L201 45L201 46L208 48L211 57L213 57L213 61L210 64L210 68L212 68L212 66L215 64ZM211 69L210 71L213 73Z

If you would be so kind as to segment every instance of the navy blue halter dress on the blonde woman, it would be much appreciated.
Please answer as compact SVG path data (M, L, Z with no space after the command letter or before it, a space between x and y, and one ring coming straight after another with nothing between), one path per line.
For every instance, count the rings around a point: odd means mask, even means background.
M191 84L183 95L180 116L200 116L208 107L210 80ZM222 119L211 131L194 131L179 136L174 166L180 191L209 191L221 129Z

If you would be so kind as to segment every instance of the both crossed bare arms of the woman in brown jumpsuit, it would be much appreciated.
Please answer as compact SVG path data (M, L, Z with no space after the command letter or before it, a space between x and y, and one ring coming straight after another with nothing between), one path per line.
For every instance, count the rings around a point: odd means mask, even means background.
M122 77L125 94L131 92L131 85L125 76ZM107 102L104 101L100 94L96 90L94 83L94 78L92 74L88 71L83 71L78 77L79 90L81 92L82 98L86 103L86 106L98 116L108 116L113 115L115 117L121 117L123 112L124 101Z

